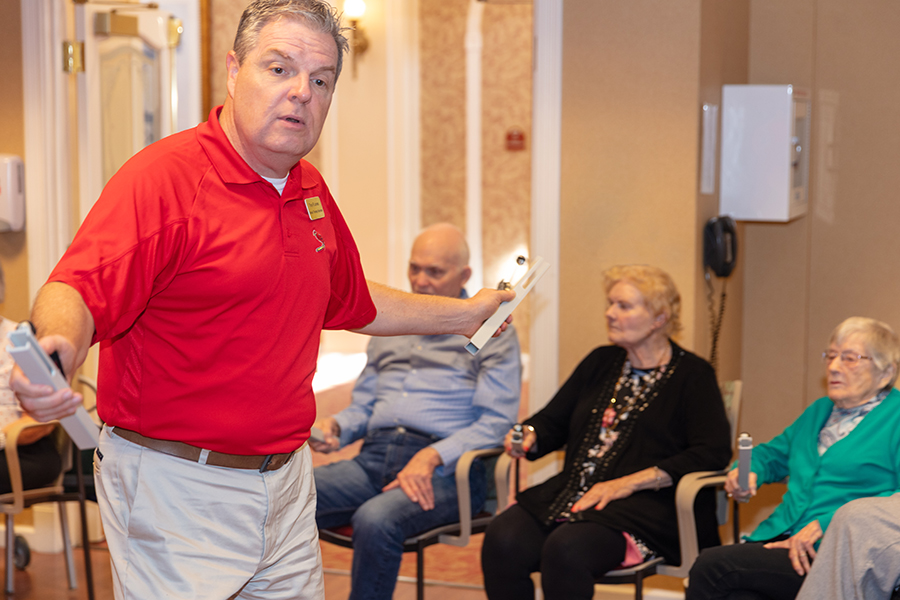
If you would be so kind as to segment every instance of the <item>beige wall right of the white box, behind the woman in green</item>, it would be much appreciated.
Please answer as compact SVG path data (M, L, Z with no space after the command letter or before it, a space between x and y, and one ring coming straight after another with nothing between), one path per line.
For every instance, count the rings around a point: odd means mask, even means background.
M764 440L824 394L818 357L841 320L900 327L900 5L751 6L751 82L813 97L809 214L746 227L744 414Z

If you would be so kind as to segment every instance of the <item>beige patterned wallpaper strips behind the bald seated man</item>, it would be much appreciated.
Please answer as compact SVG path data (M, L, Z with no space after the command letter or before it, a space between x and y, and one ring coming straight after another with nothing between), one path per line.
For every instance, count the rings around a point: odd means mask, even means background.
M468 0L421 0L422 224L465 229L465 31ZM532 7L484 6L482 20L482 251L485 284L509 276L531 237ZM525 149L506 149L510 129ZM528 300L516 311L528 347Z

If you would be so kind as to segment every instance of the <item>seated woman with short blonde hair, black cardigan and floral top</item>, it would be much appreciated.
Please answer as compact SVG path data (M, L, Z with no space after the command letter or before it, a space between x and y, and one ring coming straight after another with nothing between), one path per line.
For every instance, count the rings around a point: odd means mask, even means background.
M593 597L596 577L653 555L679 561L675 485L731 457L715 373L671 341L681 298L656 267L604 273L613 346L591 352L553 399L524 422L533 460L566 447L562 472L518 495L485 534L482 568L491 600ZM719 543L713 491L695 505L701 547Z

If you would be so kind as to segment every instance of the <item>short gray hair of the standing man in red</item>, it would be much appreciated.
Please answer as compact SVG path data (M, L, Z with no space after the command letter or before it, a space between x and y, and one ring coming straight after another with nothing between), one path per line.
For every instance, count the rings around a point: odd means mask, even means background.
M338 64L335 82L341 75L344 52L350 48L347 38L341 33L341 17L337 10L324 0L255 0L241 15L237 35L234 36L234 54L238 64L242 64L250 51L259 42L262 28L279 19L303 21L313 31L327 33L334 38L337 46Z

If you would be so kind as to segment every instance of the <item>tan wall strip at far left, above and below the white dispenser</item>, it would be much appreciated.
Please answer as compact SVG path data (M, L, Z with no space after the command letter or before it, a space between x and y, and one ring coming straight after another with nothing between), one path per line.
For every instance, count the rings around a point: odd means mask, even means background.
M22 16L19 2L0 3L0 154L25 156L25 109L22 97ZM25 165L25 168L37 168ZM27 201L27 196L26 196ZM6 273L6 299L0 315L28 318L28 254L25 232L0 233L0 265Z

